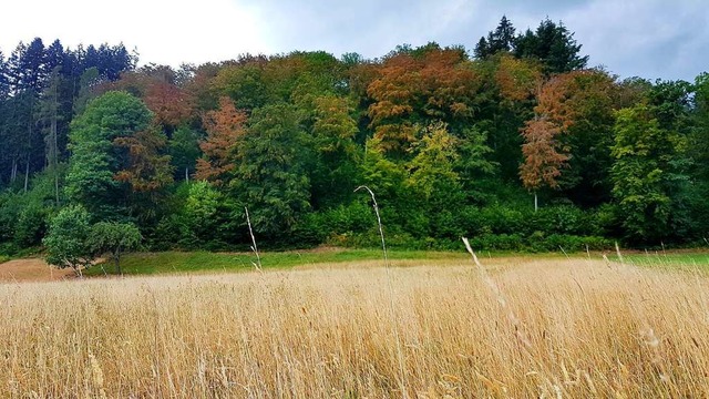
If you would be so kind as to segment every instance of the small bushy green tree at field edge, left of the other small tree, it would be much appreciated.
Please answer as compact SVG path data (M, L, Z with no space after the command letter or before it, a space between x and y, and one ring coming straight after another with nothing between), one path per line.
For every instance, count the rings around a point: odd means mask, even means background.
M59 268L71 267L76 276L90 267L94 259L89 243L91 226L89 212L81 205L70 205L52 218L42 243L47 248L45 259Z

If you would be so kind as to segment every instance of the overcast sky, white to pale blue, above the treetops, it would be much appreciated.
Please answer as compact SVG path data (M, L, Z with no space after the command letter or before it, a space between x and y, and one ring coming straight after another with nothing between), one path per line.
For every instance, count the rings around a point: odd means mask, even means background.
M506 14L517 31L548 16L576 32L589 64L623 78L693 81L709 70L706 0L23 0L1 7L0 50L40 37L123 42L141 63L325 50L377 58L397 44L463 44Z

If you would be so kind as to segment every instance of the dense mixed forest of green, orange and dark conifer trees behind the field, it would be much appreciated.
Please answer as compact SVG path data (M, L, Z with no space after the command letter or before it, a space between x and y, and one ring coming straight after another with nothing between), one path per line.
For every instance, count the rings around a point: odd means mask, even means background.
M473 42L178 69L123 44L0 52L0 254L247 249L246 209L266 248L377 246L361 185L392 247L709 244L709 74L614 75L548 19Z

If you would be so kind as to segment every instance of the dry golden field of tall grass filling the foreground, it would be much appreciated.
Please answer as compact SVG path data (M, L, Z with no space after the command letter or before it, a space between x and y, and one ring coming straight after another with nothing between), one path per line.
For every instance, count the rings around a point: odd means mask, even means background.
M706 277L456 263L0 285L0 397L709 397Z

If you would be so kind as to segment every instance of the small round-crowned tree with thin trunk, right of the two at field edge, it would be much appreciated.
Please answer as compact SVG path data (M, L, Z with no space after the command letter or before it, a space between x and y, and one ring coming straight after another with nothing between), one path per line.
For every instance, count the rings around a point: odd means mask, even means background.
M122 276L121 256L137 248L142 239L141 231L132 223L99 222L91 227L89 246L99 255L110 253L115 273Z

